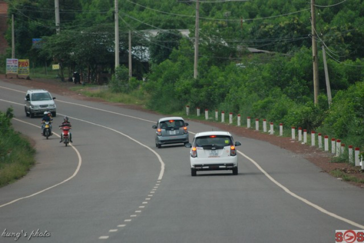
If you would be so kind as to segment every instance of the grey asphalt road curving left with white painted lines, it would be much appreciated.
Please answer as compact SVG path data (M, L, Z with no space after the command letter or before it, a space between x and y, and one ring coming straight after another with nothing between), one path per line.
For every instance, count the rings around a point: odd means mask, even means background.
M41 117L25 116L27 87L0 81L0 111L36 142L36 165L0 188L0 242L334 242L335 230L364 230L364 190L296 154L234 136L239 174L198 172L189 149L154 143L162 115L56 97L50 140ZM67 115L73 144L59 143ZM189 121L194 133L215 129ZM216 129L215 129L216 130Z

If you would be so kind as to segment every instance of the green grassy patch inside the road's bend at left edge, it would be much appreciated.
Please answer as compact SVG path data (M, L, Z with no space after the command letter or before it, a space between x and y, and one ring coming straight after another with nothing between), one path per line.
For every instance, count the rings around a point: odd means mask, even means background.
M9 129L0 137L0 187L25 176L35 163L35 149L27 138Z

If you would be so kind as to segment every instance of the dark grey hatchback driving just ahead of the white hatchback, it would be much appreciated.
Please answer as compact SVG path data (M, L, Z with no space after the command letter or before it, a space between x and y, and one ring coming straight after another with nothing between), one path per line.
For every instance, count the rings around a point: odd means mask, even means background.
M161 148L165 144L188 144L188 123L182 117L170 116L160 118L157 125L152 128L155 131L155 146Z

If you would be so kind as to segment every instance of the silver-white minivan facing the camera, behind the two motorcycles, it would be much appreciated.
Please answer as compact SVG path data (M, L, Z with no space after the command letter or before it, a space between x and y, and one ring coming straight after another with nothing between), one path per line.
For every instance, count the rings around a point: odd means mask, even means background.
M24 99L24 109L26 116L34 117L35 115L43 115L44 112L57 115L55 97L45 89L31 89L27 91Z

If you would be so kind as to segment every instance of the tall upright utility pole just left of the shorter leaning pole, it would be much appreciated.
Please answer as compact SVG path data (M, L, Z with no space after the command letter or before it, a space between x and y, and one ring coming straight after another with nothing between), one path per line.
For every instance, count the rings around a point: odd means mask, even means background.
M317 57L317 44L316 44L316 18L314 10L314 1L311 0L311 33L312 33L312 57L314 68L314 104L318 104L318 57Z

